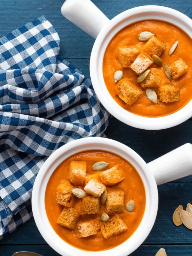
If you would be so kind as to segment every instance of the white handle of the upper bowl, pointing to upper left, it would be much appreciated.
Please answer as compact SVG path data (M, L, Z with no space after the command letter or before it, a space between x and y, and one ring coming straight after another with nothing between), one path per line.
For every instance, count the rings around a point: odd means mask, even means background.
M110 21L90 0L66 0L61 7L61 13L95 39Z

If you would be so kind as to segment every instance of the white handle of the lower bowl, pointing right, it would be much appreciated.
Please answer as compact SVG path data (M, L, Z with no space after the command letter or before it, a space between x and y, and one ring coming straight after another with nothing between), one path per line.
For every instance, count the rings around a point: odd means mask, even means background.
M192 145L186 143L147 164L157 185L192 174Z

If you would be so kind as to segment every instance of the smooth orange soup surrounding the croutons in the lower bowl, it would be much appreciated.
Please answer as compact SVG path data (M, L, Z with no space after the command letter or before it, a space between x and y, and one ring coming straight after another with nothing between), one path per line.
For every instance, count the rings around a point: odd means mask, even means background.
M96 162L105 161L109 163L109 166L107 167L106 170L116 165L119 165L119 167L122 170L122 175L125 177L125 179L117 183L116 185L113 185L110 187L106 185L106 187L107 189L113 187L113 189L118 189L118 191L120 190L124 191L123 211L121 214L118 215L118 218L120 216L120 218L125 222L125 226L127 225L128 227L124 233L114 235L105 239L101 230L99 229L94 235L78 238L76 236L78 231L77 227L71 230L67 227L63 227L57 224L58 216L61 214L63 209L69 209L69 208L57 203L56 189L58 185L61 184L62 181L69 180L68 169L71 164L71 161L81 161L81 163L86 162L86 176L88 174L98 173L98 171L92 170L92 165L95 164ZM101 173L103 173L103 171L101 171ZM73 184L73 187L83 189L84 185L75 186ZM134 200L135 208L134 208L134 211L129 212L125 209L125 206L127 202L129 202L131 199ZM82 199L75 197L74 200L75 200L75 203L73 207L75 207L76 209L79 209L79 207L81 207ZM143 185L143 181L139 173L137 172L137 170L128 161L126 161L119 155L116 155L108 151L102 151L102 150L82 151L65 159L52 173L46 187L46 192L45 192L45 209L46 209L46 214L52 228L55 230L58 236L60 236L61 239L63 239L65 242L69 243L70 245L73 245L74 247L77 247L86 251L106 250L109 248L113 248L121 244L125 240L127 240L139 226L144 214L145 205L146 205L145 188ZM105 204L104 205L100 204L99 207L100 209L98 214L80 215L78 221L80 222L88 221L93 218L99 219L100 221L101 214L106 210L106 206ZM112 218L112 216L110 216L110 218ZM103 222L103 223L107 223L107 222Z

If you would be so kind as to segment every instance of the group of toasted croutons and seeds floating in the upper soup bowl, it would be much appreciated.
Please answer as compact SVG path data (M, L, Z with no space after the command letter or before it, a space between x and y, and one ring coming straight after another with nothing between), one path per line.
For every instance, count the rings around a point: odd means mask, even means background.
M153 103L158 103L157 99L165 103L178 101L180 98L180 89L172 84L172 80L177 80L179 77L184 75L188 69L188 66L182 59L178 59L169 67L164 64L163 70L160 67L162 66L162 60L159 56L161 56L161 54L164 52L166 44L150 32L142 33L151 34L149 40L143 45L142 49L139 49L137 46L133 45L121 46L117 49L116 58L122 68L130 68L138 76L143 76L144 79L139 83L134 83L133 80L129 78L121 79L123 72L121 71L120 73L119 71L116 71L117 73L114 74L114 81L115 83L118 82L116 85L117 95L126 104L132 105L142 97L143 89L156 88L155 90L151 89L148 91L148 94L151 92L153 95L155 94L155 101L153 100L153 97L150 97L150 95L148 96L146 92L147 98ZM175 51L177 44L178 41L176 41L176 44L173 45L174 49L171 47L169 54L172 54L173 51ZM156 59L158 60L157 62L154 61ZM144 72L146 72L153 63L157 64L157 68L151 68L145 76ZM167 84L162 84L163 72L165 72L170 83L168 82ZM116 79L117 74L120 74L119 79Z

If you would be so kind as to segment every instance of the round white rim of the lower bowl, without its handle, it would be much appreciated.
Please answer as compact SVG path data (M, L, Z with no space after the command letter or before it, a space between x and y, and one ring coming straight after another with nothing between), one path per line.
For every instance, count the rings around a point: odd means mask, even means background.
M104 251L84 251L79 248L75 248L62 240L53 230L45 211L45 189L47 182L54 172L55 168L64 161L70 155L76 152L88 149L104 149L114 153L119 153L123 158L127 159L134 165L138 173L140 174L145 190L146 190L146 209L142 218L142 221L133 233L122 244ZM35 219L35 223L39 232L45 239L45 241L59 254L65 256L92 256L106 255L106 252L111 256L127 256L135 251L149 235L156 219L158 210L158 190L155 178L152 172L149 170L146 162L131 148L117 142L115 140L100 138L100 137L88 137L78 139L61 146L49 158L45 161L39 173L35 179L33 191L32 191L32 211Z

